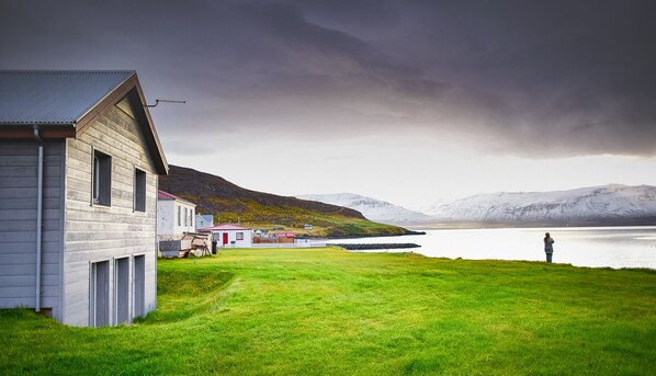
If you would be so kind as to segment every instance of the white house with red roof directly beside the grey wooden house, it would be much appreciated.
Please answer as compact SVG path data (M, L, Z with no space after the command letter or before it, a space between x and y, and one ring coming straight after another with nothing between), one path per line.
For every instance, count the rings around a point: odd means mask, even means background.
M181 239L184 232L195 232L196 205L170 193L157 192L157 237Z

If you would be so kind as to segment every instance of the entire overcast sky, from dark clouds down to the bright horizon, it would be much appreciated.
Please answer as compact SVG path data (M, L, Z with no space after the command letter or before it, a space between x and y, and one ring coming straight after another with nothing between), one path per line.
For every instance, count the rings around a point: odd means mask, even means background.
M10 1L0 68L134 69L170 163L410 207L656 185L654 1Z

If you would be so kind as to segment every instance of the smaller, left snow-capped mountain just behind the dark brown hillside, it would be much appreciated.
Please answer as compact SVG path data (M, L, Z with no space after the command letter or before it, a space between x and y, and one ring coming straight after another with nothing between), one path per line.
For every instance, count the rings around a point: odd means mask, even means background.
M367 219L383 224L415 224L431 219L423 213L353 193L306 194L296 197L355 209Z

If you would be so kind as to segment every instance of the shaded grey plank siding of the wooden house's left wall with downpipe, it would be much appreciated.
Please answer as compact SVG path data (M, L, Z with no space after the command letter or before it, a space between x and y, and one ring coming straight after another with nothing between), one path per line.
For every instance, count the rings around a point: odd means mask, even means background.
M36 303L36 143L0 143L0 308ZM60 319L64 141L44 144L42 298Z

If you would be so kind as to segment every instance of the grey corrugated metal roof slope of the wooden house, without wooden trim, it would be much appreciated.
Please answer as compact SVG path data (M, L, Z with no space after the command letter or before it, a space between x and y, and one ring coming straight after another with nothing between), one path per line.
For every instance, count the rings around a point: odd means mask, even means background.
M133 70L0 70L0 124L72 124Z

